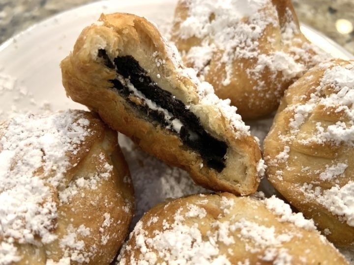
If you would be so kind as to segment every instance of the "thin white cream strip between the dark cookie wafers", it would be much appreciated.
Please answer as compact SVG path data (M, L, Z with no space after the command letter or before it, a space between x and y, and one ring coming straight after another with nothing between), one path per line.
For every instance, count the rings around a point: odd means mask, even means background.
M126 86L129 89L129 91L133 92L133 94L135 96L144 100L150 109L157 110L157 111L163 113L165 116L166 123L169 124L167 126L168 129L173 128L177 133L180 132L180 129L183 126L183 123L179 119L174 118L172 113L170 113L167 109L162 108L161 106L158 106L155 102L153 102L152 100L145 97L145 95L142 92L140 92L138 89L136 89L134 87L134 85L130 82L129 79L124 78L121 75L118 75L117 79L123 86ZM189 132L189 134L190 134L189 138L191 140L198 138L198 136L193 132Z

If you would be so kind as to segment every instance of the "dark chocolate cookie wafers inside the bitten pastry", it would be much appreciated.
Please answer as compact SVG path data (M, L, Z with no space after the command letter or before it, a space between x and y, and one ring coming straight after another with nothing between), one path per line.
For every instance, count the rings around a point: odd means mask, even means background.
M167 109L173 114L172 119L179 119L183 126L179 131L179 137L182 142L197 151L200 156L207 162L207 166L221 172L225 167L225 155L227 145L225 142L220 141L202 127L199 118L194 115L188 108L178 99L176 99L170 92L161 89L156 83L152 82L137 60L132 56L120 56L114 59L114 63L109 59L105 50L98 50L98 56L104 61L108 68L116 67L117 74L121 75L124 79L129 79L134 87L139 90L144 96L156 105ZM128 87L123 85L118 79L111 80L113 86L118 90L118 93L129 104L138 108L145 113L151 121L157 121L162 126L169 124L165 120L163 113L152 110L147 104L137 105L129 100L131 92ZM169 127L175 131L173 128Z

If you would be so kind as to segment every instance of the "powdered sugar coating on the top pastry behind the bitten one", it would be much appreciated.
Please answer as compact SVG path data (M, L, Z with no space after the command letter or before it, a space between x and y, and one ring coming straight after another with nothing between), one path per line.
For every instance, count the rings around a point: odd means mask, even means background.
M248 77L256 81L253 89L259 93L265 91L262 93L270 96L262 80L266 70L270 72L268 78L274 80L281 73L281 81L284 82L299 78L308 65L314 66L328 57L299 38L301 33L289 8L286 8L285 21L280 25L276 7L269 0L183 0L179 4L188 7L188 14L183 21L176 19L175 22L180 24L174 37L177 40L198 38L195 46L181 52L186 62L199 72L201 80L208 75L209 62L215 59L215 54L221 53L218 61L225 64L224 86L234 78L233 62L236 59L252 59L255 65L245 70ZM280 28L282 50L262 52L260 39L269 26ZM269 35L267 42L279 40ZM280 97L283 89L279 84L275 94Z

